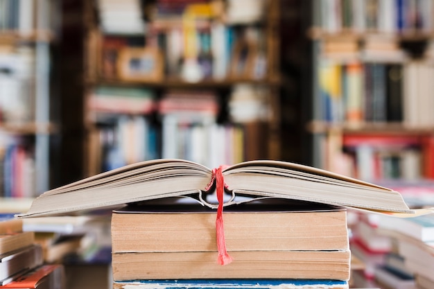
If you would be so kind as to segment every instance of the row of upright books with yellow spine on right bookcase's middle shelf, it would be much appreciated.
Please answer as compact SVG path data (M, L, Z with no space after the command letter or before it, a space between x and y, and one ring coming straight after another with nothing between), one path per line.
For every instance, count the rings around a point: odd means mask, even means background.
M426 87L426 78L418 77L414 67L413 62L389 64L322 58L318 67L322 103L318 119L358 125L385 122L428 125L429 117L416 113L426 99L424 89L419 89ZM425 74L428 71L427 68ZM420 109L423 111L424 107Z

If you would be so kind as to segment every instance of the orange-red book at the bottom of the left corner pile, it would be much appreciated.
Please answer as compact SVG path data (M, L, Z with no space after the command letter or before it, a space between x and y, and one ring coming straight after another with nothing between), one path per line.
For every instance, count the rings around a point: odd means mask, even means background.
M0 288L10 289L62 289L64 288L64 269L60 264L44 264L29 270Z

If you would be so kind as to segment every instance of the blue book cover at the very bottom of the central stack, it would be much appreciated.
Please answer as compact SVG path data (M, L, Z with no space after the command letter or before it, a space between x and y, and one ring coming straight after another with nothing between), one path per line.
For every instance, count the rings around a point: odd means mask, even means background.
M161 289L266 289L266 288L349 288L347 281L323 279L179 279L114 281L113 288Z

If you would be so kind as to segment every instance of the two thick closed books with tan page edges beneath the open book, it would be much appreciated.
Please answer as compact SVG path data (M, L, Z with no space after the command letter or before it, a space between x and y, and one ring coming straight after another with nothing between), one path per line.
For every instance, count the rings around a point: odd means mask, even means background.
M115 281L132 279L349 279L346 210L267 199L225 209L234 262L219 265L214 210L185 198L112 214Z

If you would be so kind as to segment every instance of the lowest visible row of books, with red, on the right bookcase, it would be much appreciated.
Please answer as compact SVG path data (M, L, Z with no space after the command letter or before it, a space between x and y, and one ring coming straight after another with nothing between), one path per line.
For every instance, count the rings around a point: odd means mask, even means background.
M329 170L367 182L399 179L422 182L430 174L428 137L406 133L342 132L337 129L331 130L324 141Z

